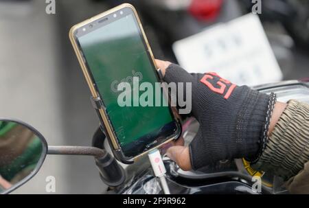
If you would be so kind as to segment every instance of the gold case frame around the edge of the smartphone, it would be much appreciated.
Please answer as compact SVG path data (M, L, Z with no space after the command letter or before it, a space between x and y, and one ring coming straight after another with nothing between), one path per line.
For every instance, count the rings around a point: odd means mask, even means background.
M80 63L80 66L82 67L82 72L84 73L84 77L87 80L87 84L89 86L89 89L91 91L91 95L93 97L94 100L100 100L100 95L98 95L98 92L95 90L95 87L93 86L93 81L91 79L91 76L89 75L89 71L87 69L87 66L84 63L84 60L82 58L82 54L80 52L80 49L78 47L78 43L76 42L76 39L74 37L74 33L77 29L79 29L80 27L84 27L84 25L87 25L93 21L97 21L98 19L102 19L102 17L108 15L108 14L112 14L113 12L116 12L117 10L122 10L124 8L131 8L135 14L135 18L137 19L137 22L139 23L139 28L141 30L141 33L144 36L144 40L146 43L146 46L148 47L148 51L150 53L150 56L152 58L152 62L155 65L156 69L158 69L156 63L155 63L155 58L152 54L152 51L150 49L150 45L148 43L148 40L146 38L146 34L144 32L143 27L141 26L141 21L139 20L139 16L137 15L137 11L135 10L135 8L133 7L133 5L130 5L129 3L123 3L122 5L118 5L115 8L112 8L111 10L108 10L106 12L103 12L101 14L98 14L96 16L93 16L91 19L87 19L85 21L82 21L81 23L78 23L77 25L73 25L73 27L71 27L71 30L69 31L69 38L71 40L71 44L73 45L73 49L76 53L76 56L78 57L78 62ZM155 71L155 73L157 73L157 71ZM179 120L176 119L176 115L175 115L175 111L174 109L172 109L173 114L174 114L174 119L179 123ZM104 108L98 108L98 115L100 117L100 121L103 122L104 128L105 128L105 134L106 137L110 140L111 145L113 146L113 153L115 155L115 151L120 151L121 152L121 148L119 146L119 143L117 141L117 137L115 135L115 132L113 131L113 126L111 125L111 122L109 122L108 116L106 114L106 111L104 110ZM180 128L180 124L179 124L179 128ZM168 139L167 141L164 141L163 143L159 144L159 146L156 146L155 148L159 148L160 146L162 146L164 143L168 143L174 139L177 139L179 137L181 133L181 130L178 130L177 135L175 135L174 137ZM137 159L138 157L141 157L141 155L146 154L147 152L155 149L155 148L151 148L149 150L147 150L146 152L142 152L141 154L133 157L133 158L124 158L124 156L119 158L119 155L115 155L115 157L117 157L117 159L119 159L120 161L122 161L123 163L133 163L133 161L135 159ZM118 152L119 153L119 152Z

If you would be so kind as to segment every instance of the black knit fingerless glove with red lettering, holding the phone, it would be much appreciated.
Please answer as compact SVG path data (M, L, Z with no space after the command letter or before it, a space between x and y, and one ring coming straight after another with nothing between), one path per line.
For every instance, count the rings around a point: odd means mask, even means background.
M222 159L254 158L266 119L269 96L236 86L216 73L166 69L165 82L192 82L192 113L200 128L190 143L194 170ZM187 99L188 97L186 97Z

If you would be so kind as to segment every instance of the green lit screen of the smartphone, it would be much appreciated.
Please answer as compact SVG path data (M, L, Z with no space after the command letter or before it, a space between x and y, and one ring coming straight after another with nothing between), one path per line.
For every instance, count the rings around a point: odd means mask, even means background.
M131 106L119 106L120 82L130 83L133 93L138 91L133 87L133 77L139 78L139 84L150 82L154 89L159 80L133 11L125 9L117 15L111 14L102 26L80 34L78 43L122 152L134 157L165 141L177 126L166 105L133 106L132 99ZM142 93L139 91L139 95ZM162 103L166 103L160 93ZM153 93L154 102L155 97Z

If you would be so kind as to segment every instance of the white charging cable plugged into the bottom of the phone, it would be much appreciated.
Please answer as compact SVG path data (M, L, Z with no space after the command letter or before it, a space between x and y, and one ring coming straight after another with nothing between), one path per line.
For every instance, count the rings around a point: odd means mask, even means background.
M170 189L168 188L168 183L165 179L166 170L159 150L155 149L150 151L148 153L148 157L152 166L152 170L155 172L155 176L160 179L164 194L170 194Z

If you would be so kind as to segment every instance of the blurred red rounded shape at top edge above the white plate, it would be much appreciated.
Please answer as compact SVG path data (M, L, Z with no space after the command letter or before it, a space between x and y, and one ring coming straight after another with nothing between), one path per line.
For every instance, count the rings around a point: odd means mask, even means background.
M214 21L220 13L223 0L192 0L189 12L196 19L202 21Z

